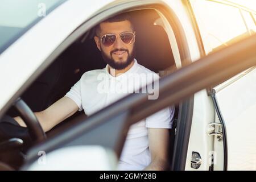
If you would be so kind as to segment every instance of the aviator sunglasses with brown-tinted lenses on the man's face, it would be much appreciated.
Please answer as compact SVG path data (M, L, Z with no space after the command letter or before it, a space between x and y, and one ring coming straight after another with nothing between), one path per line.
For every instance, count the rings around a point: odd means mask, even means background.
M135 38L134 32L122 32L119 34L120 39L125 44L130 44L133 42ZM102 44L106 47L112 46L117 40L117 36L115 34L106 34L101 37Z

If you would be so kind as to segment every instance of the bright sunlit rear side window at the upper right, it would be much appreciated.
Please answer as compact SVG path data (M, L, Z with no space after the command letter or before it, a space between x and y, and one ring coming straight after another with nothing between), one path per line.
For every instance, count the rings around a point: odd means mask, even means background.
M191 0L205 53L228 46L228 42L248 35L240 10L210 1Z

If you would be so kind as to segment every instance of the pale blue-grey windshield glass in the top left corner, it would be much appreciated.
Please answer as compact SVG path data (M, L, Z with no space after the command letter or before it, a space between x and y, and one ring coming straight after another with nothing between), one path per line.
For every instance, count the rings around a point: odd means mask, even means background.
M0 53L38 20L66 0L2 0L0 2Z

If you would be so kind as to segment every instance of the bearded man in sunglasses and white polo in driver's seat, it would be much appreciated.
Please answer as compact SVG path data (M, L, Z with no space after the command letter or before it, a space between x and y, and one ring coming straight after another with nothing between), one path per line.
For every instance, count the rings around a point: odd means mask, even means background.
M87 115L93 114L158 79L156 73L139 65L135 59L135 31L128 15L117 15L98 24L94 40L107 63L106 68L85 72L63 98L46 110L35 113L44 131L50 130L77 110L84 110ZM143 75L151 77L145 79L148 77ZM168 129L172 127L173 115L174 110L163 109L131 126L118 169L167 169ZM19 117L15 119L24 126Z

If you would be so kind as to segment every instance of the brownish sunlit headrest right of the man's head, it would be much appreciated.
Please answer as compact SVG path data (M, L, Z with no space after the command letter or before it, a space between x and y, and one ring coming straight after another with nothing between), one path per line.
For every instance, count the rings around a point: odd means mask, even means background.
M175 64L168 36L159 25L137 28L135 46L138 63L156 73Z

